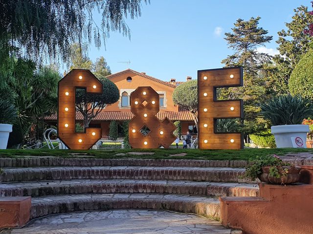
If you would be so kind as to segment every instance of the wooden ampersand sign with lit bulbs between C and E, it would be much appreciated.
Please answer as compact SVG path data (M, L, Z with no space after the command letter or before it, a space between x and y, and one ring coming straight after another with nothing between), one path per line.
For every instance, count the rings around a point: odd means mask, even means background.
M159 95L151 87L138 87L131 94L131 111L134 117L129 123L129 143L133 148L168 148L176 139L176 126L167 117L159 120Z

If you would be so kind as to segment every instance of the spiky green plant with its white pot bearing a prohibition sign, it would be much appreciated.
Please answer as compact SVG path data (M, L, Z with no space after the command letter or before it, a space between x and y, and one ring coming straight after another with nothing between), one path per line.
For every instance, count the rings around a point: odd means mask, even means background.
M277 148L306 148L309 125L304 118L313 116L313 102L300 95L284 95L261 104L261 115L271 123Z

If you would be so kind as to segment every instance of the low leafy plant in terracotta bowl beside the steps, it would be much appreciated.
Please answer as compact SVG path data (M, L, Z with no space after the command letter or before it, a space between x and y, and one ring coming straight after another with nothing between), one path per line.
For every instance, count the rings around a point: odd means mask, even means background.
M300 179L301 167L292 166L278 156L257 156L246 166L244 177L251 180L259 178L269 184L292 184Z

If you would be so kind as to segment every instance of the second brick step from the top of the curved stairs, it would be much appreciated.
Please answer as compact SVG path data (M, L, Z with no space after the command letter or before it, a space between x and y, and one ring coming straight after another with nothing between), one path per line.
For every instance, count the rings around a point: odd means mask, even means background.
M250 182L243 168L225 167L35 167L4 168L0 182L65 179L163 179Z

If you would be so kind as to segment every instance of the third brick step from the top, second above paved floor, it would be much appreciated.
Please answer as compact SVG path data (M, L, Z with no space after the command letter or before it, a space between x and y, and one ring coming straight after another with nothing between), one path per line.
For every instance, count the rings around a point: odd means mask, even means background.
M0 183L0 196L157 193L206 196L258 196L257 185L186 180L82 179Z

